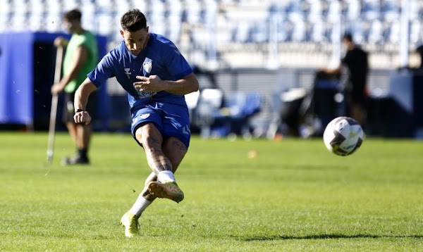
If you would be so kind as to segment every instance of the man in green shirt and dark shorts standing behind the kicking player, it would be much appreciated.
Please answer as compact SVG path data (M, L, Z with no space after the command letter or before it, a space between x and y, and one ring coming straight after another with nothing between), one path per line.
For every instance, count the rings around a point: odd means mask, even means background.
M92 129L89 125L75 124L73 115L73 98L79 85L87 78L98 63L97 39L92 32L84 30L81 25L82 13L78 10L68 11L63 21L72 33L71 39L57 37L54 46L66 48L63 58L63 77L59 83L51 87L51 94L65 93L63 106L63 123L75 143L77 152L73 156L63 158L63 165L89 164L87 152L90 146ZM93 110L94 103L87 105Z

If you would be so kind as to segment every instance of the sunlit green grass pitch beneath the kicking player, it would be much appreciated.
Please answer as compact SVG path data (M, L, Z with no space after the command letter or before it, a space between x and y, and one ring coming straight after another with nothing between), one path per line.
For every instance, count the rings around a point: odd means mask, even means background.
M0 251L423 251L423 142L192 139L180 204L155 201L141 236L118 225L149 174L129 134L92 139L90 166L57 134L0 132ZM258 156L248 158L250 151Z

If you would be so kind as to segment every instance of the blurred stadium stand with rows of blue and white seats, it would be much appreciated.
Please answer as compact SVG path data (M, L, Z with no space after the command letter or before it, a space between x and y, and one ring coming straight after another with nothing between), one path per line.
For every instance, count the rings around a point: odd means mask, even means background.
M3 0L0 4L0 32L62 32L63 12L81 8L85 27L106 35L110 48L121 41L116 30L122 13L140 8L152 32L176 42L190 62L207 67L217 58L218 66L233 68L265 66L266 57L251 60L242 52L254 48L268 54L271 37L280 43L281 66L297 66L298 62L286 60L295 52L302 66L315 67L322 60L304 58L314 54L328 59L332 53L328 45L338 39L333 24L339 20L343 31L352 32L376 55L371 58L375 68L396 67L383 55L399 42L396 21L401 11L400 0ZM410 0L410 48L422 43L422 17L423 2Z

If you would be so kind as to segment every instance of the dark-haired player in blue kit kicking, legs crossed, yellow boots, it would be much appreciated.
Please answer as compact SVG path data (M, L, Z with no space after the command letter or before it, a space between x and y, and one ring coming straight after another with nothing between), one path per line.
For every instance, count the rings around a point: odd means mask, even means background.
M115 76L128 92L131 132L145 151L152 173L133 207L121 218L126 237L138 234L138 218L157 198L179 203L184 194L174 173L190 144L190 120L185 94L199 88L197 77L176 46L149 32L145 15L133 9L121 17L123 42L110 51L75 94L77 123L90 123L88 96Z

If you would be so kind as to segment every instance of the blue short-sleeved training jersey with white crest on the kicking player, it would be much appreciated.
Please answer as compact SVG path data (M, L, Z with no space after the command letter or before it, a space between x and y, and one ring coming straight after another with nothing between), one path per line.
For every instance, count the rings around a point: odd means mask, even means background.
M128 92L128 101L133 107L151 102L173 103L186 106L185 96L161 92L140 92L134 88L134 82L140 82L137 75L149 77L157 75L161 80L180 80L192 73L192 68L180 54L175 44L159 34L149 33L145 49L137 56L133 55L123 41L110 51L97 64L87 77L99 87L109 77L116 77L123 89Z

